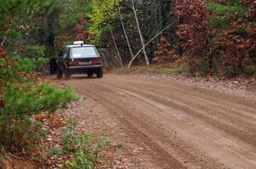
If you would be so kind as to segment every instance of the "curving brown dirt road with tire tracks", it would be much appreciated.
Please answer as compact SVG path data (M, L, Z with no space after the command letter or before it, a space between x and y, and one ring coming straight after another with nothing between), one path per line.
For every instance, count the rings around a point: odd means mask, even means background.
M103 109L91 121L143 149L137 168L256 168L256 99L142 76L63 83Z

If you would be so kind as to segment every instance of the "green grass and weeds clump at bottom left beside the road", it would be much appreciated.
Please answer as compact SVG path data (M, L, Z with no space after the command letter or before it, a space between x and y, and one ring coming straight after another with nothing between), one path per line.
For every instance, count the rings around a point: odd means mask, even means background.
M68 157L58 165L63 169L93 169L101 161L99 154L108 146L108 139L93 138L89 133L76 131L76 121L67 121L61 134L61 147L51 148L51 155L56 159Z

